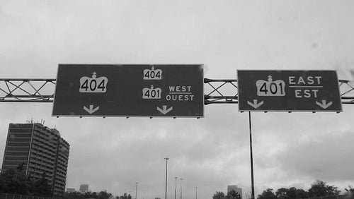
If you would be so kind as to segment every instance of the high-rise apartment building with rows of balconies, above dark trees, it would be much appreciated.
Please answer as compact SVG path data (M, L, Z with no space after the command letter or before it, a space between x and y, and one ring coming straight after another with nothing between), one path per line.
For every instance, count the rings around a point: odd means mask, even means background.
M41 123L10 123L1 171L23 164L27 176L40 179L45 173L54 195L62 195L69 149L57 129Z

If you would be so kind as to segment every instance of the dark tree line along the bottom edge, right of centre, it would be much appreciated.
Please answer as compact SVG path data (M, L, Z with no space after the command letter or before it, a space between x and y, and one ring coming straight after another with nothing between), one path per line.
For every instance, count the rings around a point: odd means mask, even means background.
M344 188L346 193L344 195L348 196L348 198L354 198L354 188L353 186L348 186L348 188ZM325 181L315 181L312 183L311 188L309 190L304 191L302 188L278 188L277 191L274 191L273 188L265 189L261 194L257 195L258 199L299 199L299 198L316 198L316 197L324 197L331 195L339 195L341 191L339 191L337 186L329 185ZM225 195L222 192L215 193L212 196L212 199L227 199L230 196ZM239 199L239 198L237 198Z

